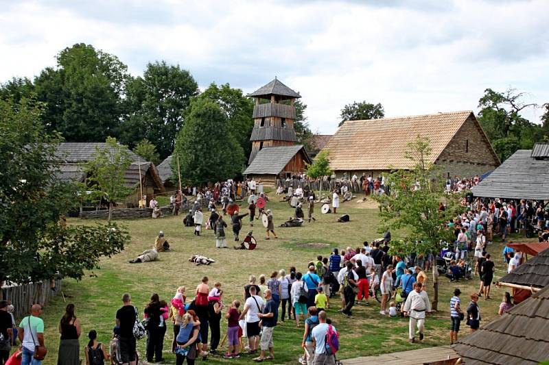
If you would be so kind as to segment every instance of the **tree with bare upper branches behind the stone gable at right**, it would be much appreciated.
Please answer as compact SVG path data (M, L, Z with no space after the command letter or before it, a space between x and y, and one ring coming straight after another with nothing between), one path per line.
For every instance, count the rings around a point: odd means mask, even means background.
M544 140L543 127L530 123L520 115L522 110L537 106L534 103L523 103L522 97L523 92L511 88L505 92L488 88L478 101L478 107L481 108L478 122L502 161L517 149L531 149L535 142Z

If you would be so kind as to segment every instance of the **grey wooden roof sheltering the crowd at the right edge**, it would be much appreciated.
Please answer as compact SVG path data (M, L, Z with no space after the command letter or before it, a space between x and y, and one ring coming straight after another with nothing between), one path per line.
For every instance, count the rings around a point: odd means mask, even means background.
M471 188L475 197L507 199L549 199L549 160L530 157L519 149L486 179Z

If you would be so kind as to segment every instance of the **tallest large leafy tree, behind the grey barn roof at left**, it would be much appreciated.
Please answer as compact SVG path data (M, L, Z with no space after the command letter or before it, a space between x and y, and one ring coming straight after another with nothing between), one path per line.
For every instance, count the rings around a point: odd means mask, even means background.
M47 110L48 131L69 142L97 142L117 132L127 66L109 53L79 43L58 53L55 68L34 80L36 95Z

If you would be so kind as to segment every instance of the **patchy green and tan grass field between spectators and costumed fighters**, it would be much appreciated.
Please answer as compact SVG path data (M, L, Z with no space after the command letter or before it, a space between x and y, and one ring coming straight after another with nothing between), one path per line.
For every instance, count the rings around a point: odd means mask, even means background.
M288 203L270 201L268 203L274 214L275 227L283 223L293 214ZM115 325L115 313L121 306L121 294L130 292L132 301L140 311L148 302L150 295L158 293L161 299L172 299L176 288L184 285L187 288L187 297L192 297L200 278L207 275L210 283L222 282L224 303L233 299L242 300L242 286L247 283L248 276L253 273L257 277L261 274L270 275L273 270L296 266L299 271L305 272L307 262L314 260L316 255L329 255L333 247L347 246L360 247L364 240L379 238L377 234L377 209L371 202L358 204L355 201L342 203L341 214L349 214L351 222L336 223L336 215L320 214L320 207L316 207L316 223L305 223L299 228L275 229L279 239L264 240L264 228L256 221L254 236L258 247L254 251L233 249L215 249L215 239L210 230L202 231L202 236L196 237L193 229L183 227L182 216L167 216L156 220L134 220L119 222L129 229L132 236L125 251L115 257L102 260L101 268L86 275L82 281L63 281L62 292L67 303L75 303L76 315L82 321L82 336L80 349L84 357L84 346L87 343L87 333L95 329L99 340L108 344ZM205 214L206 216L207 214ZM247 218L247 217L246 217ZM246 221L246 218L244 220ZM246 221L247 222L247 221ZM91 221L71 220L70 223L93 224ZM244 225L241 238L244 237L248 225ZM170 242L172 251L160 253L159 260L145 264L128 264L128 260L135 257L154 243L158 231L163 230ZM227 229L229 245L231 242L231 227ZM401 232L394 231L393 238L399 238ZM493 253L496 264L495 278L506 273L502 264L501 244L493 244L489 251ZM195 266L188 262L194 253L201 253L216 260L210 266ZM459 287L463 305L468 303L468 294L478 290L478 280L462 281L458 284L449 283L441 278L439 312L426 320L425 340L419 344L408 343L408 320L404 318L386 318L379 315L379 305L370 300L369 306L353 308L354 316L346 318L339 314L339 300L331 300L331 309L328 314L334 325L340 331L340 351L338 357L349 358L394 351L406 351L419 347L433 347L449 343L449 299L454 288ZM432 284L431 282L429 284ZM480 310L482 324L487 324L497 316L497 308L504 290L493 288L490 301L481 300ZM428 293L432 298L432 288ZM45 307L45 340L49 354L45 364L55 364L59 334L58 321L64 313L66 303L59 295ZM222 322L222 336L226 331L226 320ZM463 324L463 335L469 329ZM297 364L301 355L300 347L303 336L303 327L296 328L295 323L286 321L274 329L274 355L276 364ZM164 345L164 357L167 363L175 363L175 357L170 353L172 335L170 328L167 331ZM220 350L225 350L220 349ZM138 351L141 359L145 357L145 340L138 342ZM244 356L240 360L224 360L222 357L208 357L213 364L239 362L252 363L251 356Z

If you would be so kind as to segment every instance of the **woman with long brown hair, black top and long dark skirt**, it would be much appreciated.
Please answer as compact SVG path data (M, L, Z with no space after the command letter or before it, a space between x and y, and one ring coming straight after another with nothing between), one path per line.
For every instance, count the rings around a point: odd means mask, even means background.
M74 304L68 304L59 323L59 365L80 365L80 320L74 314Z

